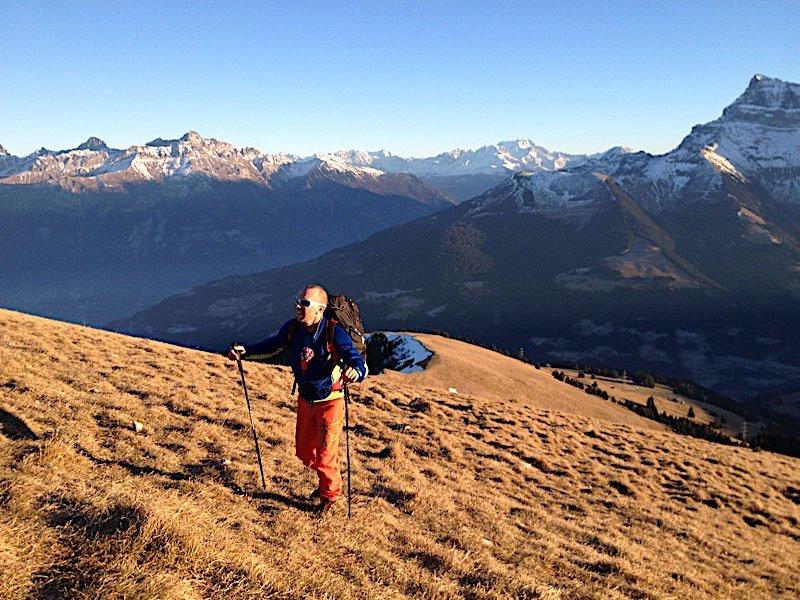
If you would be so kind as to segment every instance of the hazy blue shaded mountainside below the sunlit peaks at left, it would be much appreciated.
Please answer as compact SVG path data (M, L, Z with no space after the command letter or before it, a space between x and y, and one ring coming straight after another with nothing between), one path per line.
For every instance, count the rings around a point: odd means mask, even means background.
M203 173L79 192L49 180L0 184L0 305L104 323L451 204L411 175L342 169L318 161L271 186Z

